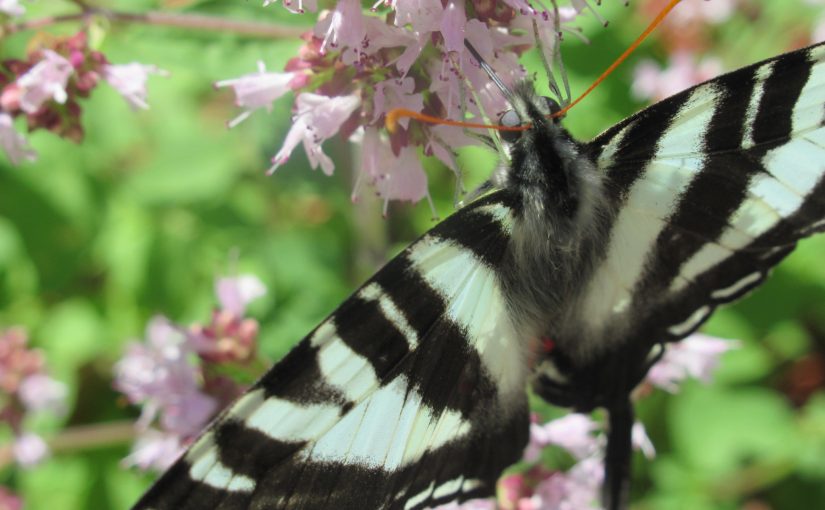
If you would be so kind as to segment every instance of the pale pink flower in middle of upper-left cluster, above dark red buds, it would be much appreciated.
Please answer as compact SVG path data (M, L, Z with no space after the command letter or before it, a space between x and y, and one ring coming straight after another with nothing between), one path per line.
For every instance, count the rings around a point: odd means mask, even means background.
M46 101L65 103L66 83L74 72L71 62L52 50L43 50L43 58L17 79L20 108L35 113Z

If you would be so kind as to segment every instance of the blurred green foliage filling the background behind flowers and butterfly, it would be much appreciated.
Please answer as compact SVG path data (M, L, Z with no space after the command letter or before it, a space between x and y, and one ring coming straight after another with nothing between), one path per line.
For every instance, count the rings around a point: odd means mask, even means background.
M158 8L146 0L110 3ZM262 9L259 2L169 3L242 19L312 23L311 16ZM568 37L574 91L642 28L632 8L617 4L601 8L609 28L582 23L591 45ZM778 53L815 21L801 0L744 4L752 11L714 32L713 53L728 68ZM37 17L70 4L26 7ZM754 9L759 16L752 16ZM111 388L112 365L125 342L141 337L153 314L181 323L205 320L217 275L252 272L266 283L270 293L251 315L261 322L262 352L277 359L381 262L433 225L425 204L393 205L387 220L369 190L353 205L357 150L346 142L325 145L337 165L332 178L309 171L300 149L265 177L289 125L288 98L269 115L258 112L232 131L225 128L237 112L231 94L216 92L212 82L250 72L258 59L282 69L299 41L137 25L98 29L111 62L136 60L171 72L150 80L151 109L130 111L103 84L84 103L82 144L39 132L32 136L36 163L14 168L0 161L0 325L25 326L71 389L69 415L37 423L47 436L64 427L133 420L136 410ZM24 55L32 35L4 39L4 57ZM645 56L666 60L655 41L645 43L570 114L574 134L592 136L642 106L629 98L628 86L633 62ZM535 56L525 62L542 82ZM462 152L461 162L470 187L495 164L491 153L476 149ZM453 177L433 162L428 170L437 210L447 215ZM726 355L712 384L689 382L678 396L656 393L640 403L658 457L637 459L637 508L825 508L823 254L822 236L804 242L762 289L716 314L705 330L738 338L743 347ZM153 478L121 468L129 447L68 448L31 470L2 468L0 483L20 492L29 510L124 509Z

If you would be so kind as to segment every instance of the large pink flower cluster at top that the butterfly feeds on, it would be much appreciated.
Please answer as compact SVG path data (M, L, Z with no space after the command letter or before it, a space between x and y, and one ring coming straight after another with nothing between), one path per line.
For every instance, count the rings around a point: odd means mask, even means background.
M269 4L272 2L265 2ZM358 183L369 182L386 203L428 197L419 153L432 155L457 175L453 150L477 143L461 128L402 119L384 128L387 112L406 108L441 118L496 122L505 97L464 46L471 43L505 83L525 77L518 56L538 41L551 52L562 24L588 7L584 0L554 9L525 0L378 1L367 14L358 0L323 11L284 72L265 71L216 83L231 87L242 113L235 126L289 91L296 94L293 124L270 172L302 145L313 168L335 168L322 144L340 135L362 141ZM293 12L315 2L284 2ZM359 185L353 192L357 196Z

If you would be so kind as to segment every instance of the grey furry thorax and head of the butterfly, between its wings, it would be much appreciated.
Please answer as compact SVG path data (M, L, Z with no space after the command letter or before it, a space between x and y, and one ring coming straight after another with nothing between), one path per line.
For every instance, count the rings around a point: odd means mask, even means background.
M520 89L520 101L514 105L522 119L535 118L536 110L543 115L549 113L543 101L524 90ZM491 178L494 187L516 193L521 202L508 260L502 264L504 293L523 339L552 338L569 356L583 361L609 345L603 338L604 331L581 330L587 322L579 314L586 284L609 236L613 211L604 197L604 176L595 162L555 121L534 122L518 140L507 144L507 150L511 155L534 150L536 139L550 144L557 156L554 161L561 168L519 167L516 157L513 165L500 166ZM546 166L545 160L541 163ZM538 182L526 182L524 175L530 172L538 172ZM576 202L572 214L565 215L559 209L557 197L543 187L546 182L541 172L566 176L566 196Z

